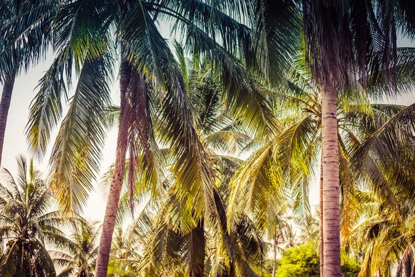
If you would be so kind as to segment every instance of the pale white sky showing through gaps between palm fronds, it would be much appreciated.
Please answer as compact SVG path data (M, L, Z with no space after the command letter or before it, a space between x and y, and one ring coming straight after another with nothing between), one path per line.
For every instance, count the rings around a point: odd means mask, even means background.
M161 30L161 33L164 37L169 37L169 30L165 28ZM414 46L411 42L400 39L398 46ZM53 61L53 55L48 55L46 61L41 62L35 68L30 69L28 73L21 74L15 81L15 88L13 90L12 102L10 105L8 123L6 127L6 138L4 141L3 149L3 158L2 166L8 168L13 175L16 172L16 161L15 157L17 154L26 154L27 155L27 143L24 130L28 120L28 109L30 107L30 102L35 96L35 88L37 86L38 80L42 78L44 72L48 69L51 62ZM3 87L0 84L0 89ZM113 101L115 104L119 103L119 90L117 88L117 83L113 87ZM411 105L415 102L414 93L411 96L406 98L398 98L396 100L389 100L388 102L401 104L401 105ZM55 129L52 139L55 138L58 128ZM117 130L113 129L109 132L107 136L107 143L104 148L104 159L101 163L101 175L105 172L109 166L115 161L115 150L116 150L116 140L117 140ZM53 145L53 140L50 141L50 146ZM46 155L42 163L37 163L37 168L44 172L48 172L48 154ZM320 176L320 172L317 170L316 175ZM317 179L316 179L317 180ZM318 183L317 181L313 182L311 186L310 198L313 205L318 204ZM84 217L89 220L99 220L102 222L105 213L106 199L104 195L100 192L98 184L95 182L95 191L91 192L89 197L89 202L84 209Z

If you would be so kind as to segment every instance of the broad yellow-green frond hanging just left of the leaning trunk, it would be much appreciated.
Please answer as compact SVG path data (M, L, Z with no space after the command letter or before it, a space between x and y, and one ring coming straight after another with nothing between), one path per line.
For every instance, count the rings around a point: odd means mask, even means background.
M82 210L99 170L111 72L108 57L84 63L50 154L51 185L59 206L66 211Z

